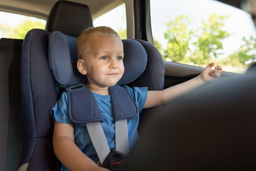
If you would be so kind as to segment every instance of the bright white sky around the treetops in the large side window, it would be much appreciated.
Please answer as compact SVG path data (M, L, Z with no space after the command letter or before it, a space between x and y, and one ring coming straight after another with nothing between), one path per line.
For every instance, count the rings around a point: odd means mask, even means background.
M167 16L175 19L178 15L188 15L193 20L191 27L198 28L202 26L201 19L206 21L210 14L228 15L222 28L231 35L222 42L223 57L240 48L243 36L256 37L256 29L248 13L215 0L151 0L150 10L153 37L163 47L167 44L163 36L169 21Z

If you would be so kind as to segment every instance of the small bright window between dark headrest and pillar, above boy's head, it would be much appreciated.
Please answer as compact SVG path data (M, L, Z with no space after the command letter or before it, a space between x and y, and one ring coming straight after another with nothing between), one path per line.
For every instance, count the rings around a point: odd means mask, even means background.
M93 26L111 27L121 39L127 39L125 3L93 20Z

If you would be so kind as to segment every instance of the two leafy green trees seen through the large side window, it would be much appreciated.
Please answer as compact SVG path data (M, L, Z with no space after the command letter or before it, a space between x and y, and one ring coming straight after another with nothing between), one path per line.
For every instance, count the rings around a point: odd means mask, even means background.
M203 27L195 30L188 29L191 22L188 16L179 15L175 20L169 18L164 33L168 40L166 57L173 62L193 64L207 64L218 58L221 54L218 50L223 49L221 41L229 36L221 29L225 18L227 16L211 14L207 22L202 19ZM189 45L194 45L194 49L191 50Z

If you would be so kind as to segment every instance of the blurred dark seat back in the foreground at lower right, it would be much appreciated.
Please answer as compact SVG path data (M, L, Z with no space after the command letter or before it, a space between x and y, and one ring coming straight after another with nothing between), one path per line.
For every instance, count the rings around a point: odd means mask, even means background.
M155 111L124 170L256 170L255 73L207 83Z

